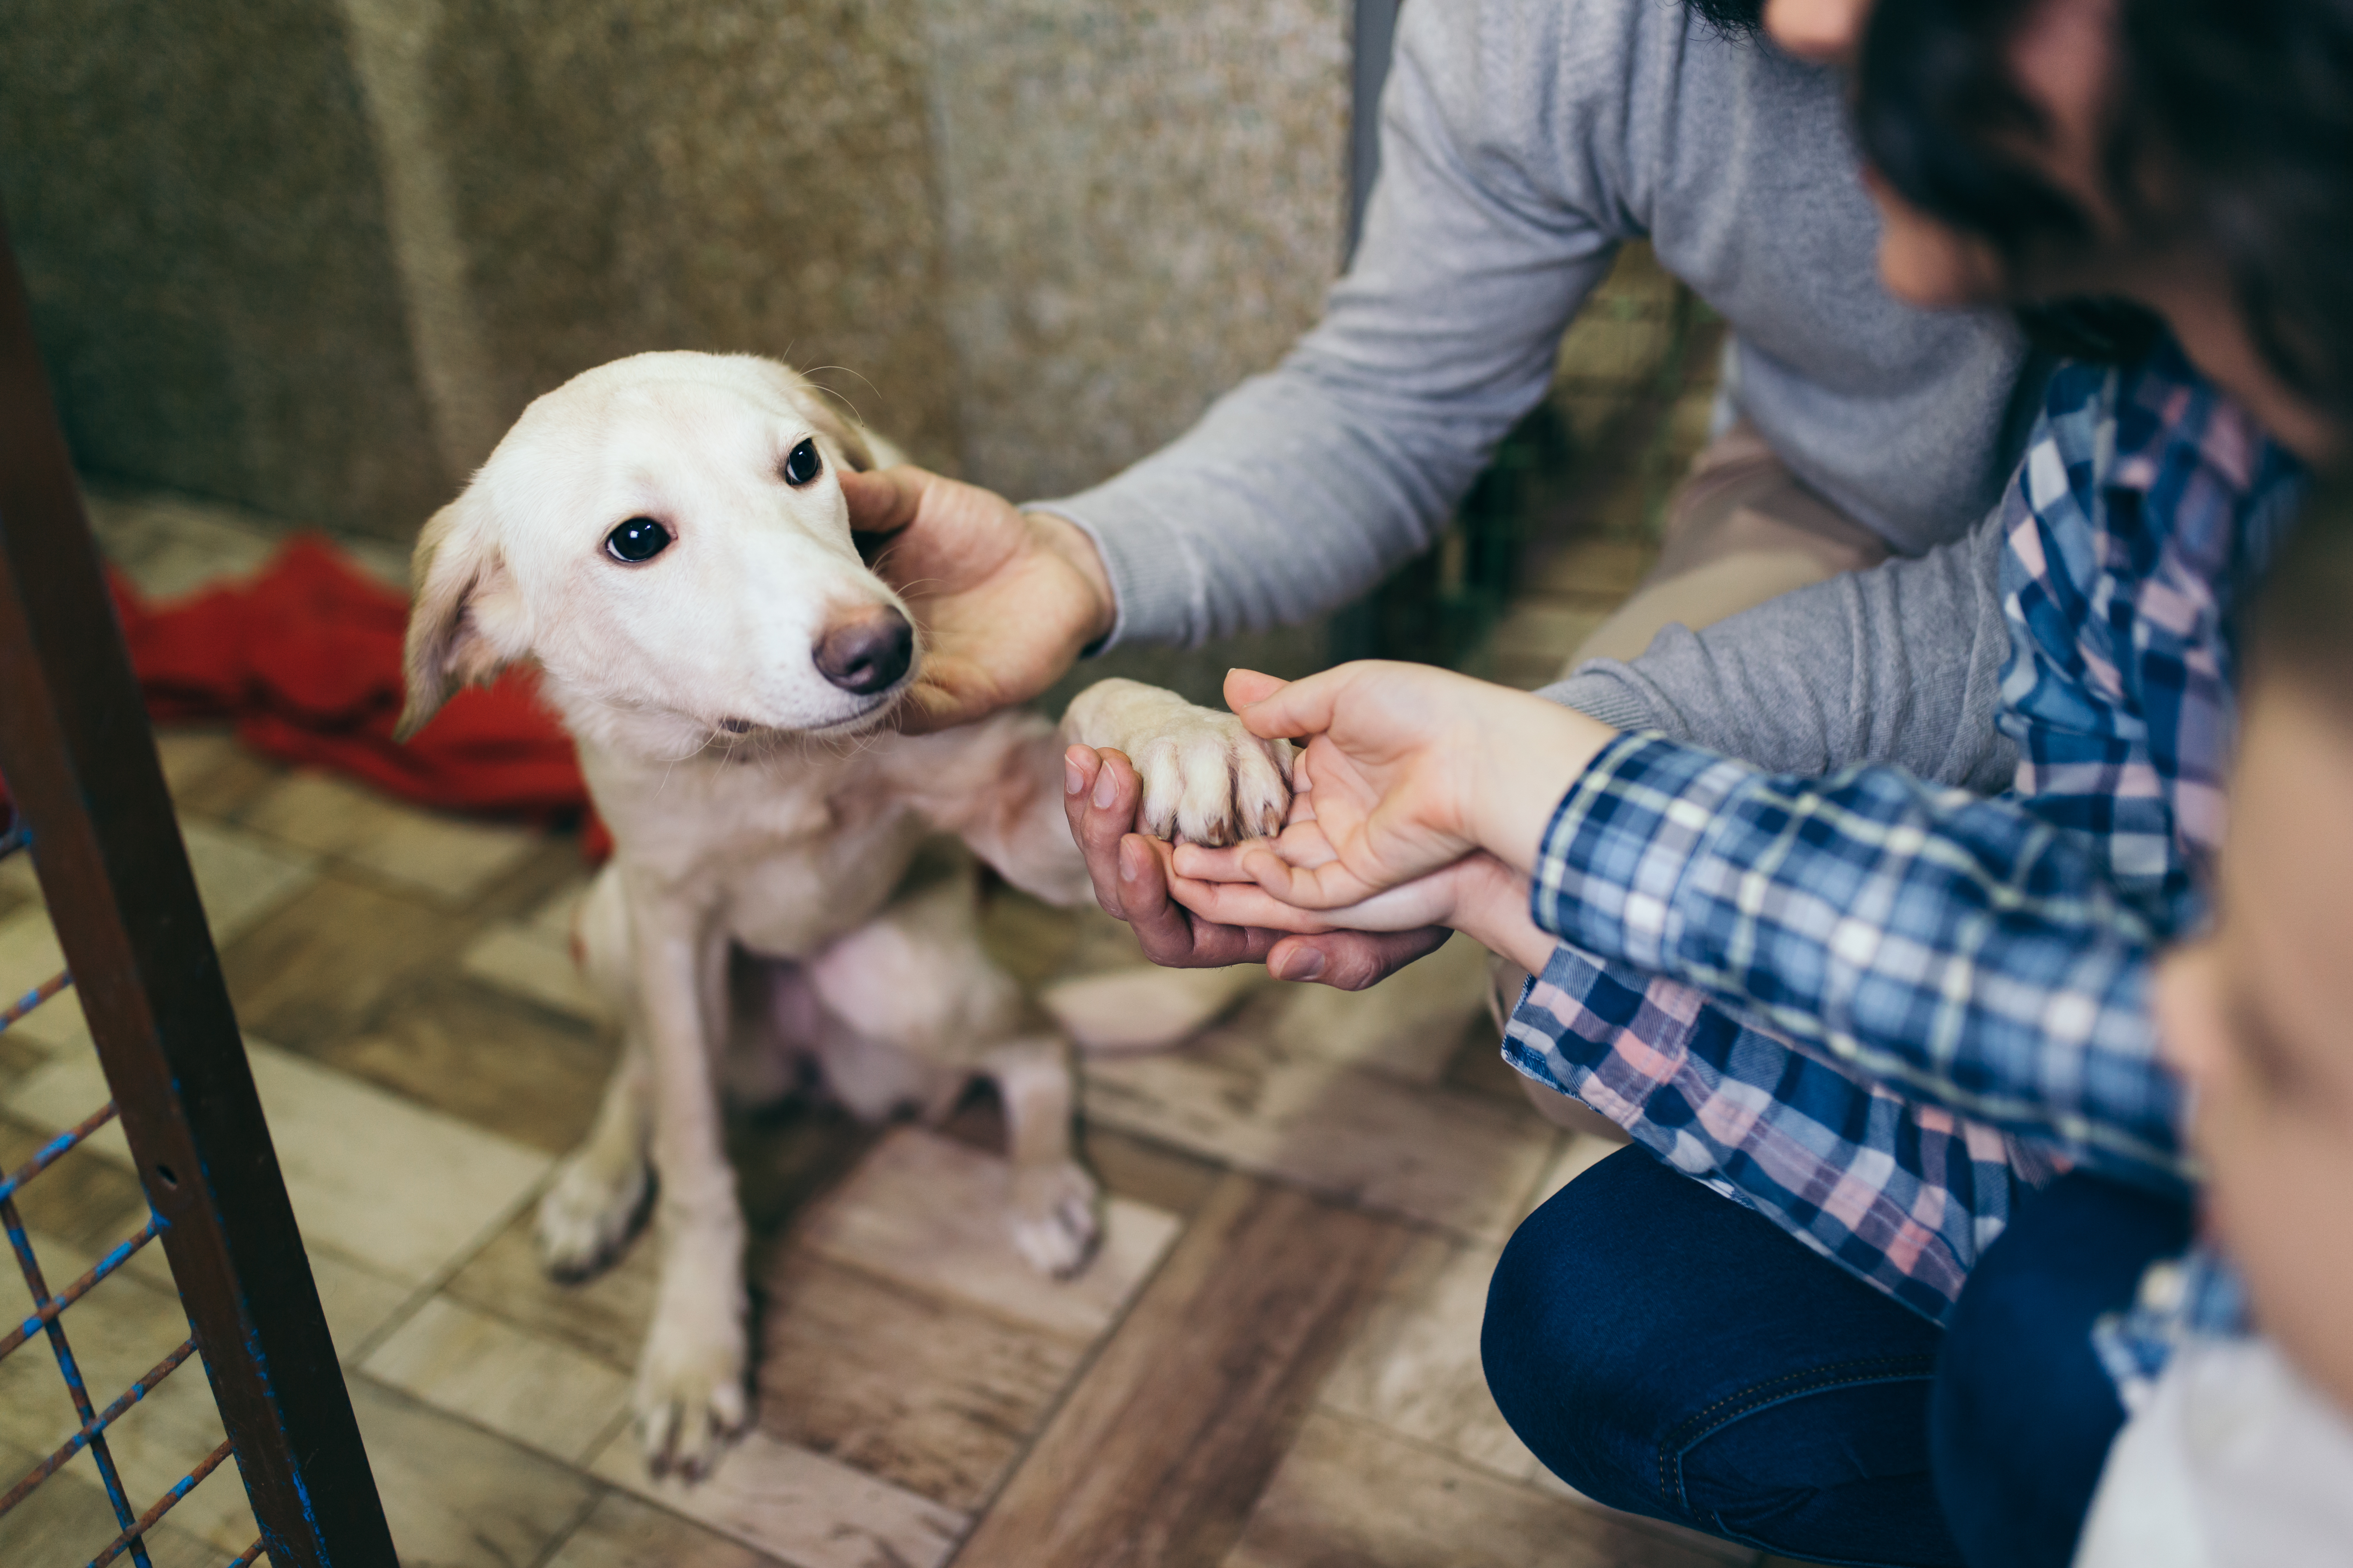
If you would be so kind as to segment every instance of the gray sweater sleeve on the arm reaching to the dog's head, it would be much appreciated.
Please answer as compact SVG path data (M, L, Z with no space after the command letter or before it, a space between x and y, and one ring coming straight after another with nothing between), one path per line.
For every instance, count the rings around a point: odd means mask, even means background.
M1428 548L1546 393L1619 233L1532 167L1555 7L1409 5L1348 275L1285 362L1115 480L1038 503L1118 592L1111 644L1304 621ZM1605 45L1607 52L1607 45Z

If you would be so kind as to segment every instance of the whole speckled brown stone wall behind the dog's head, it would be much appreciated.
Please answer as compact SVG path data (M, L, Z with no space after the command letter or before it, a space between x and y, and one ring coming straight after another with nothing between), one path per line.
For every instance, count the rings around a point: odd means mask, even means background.
M92 473L402 538L645 348L1019 498L1313 320L1346 0L12 0L0 200Z

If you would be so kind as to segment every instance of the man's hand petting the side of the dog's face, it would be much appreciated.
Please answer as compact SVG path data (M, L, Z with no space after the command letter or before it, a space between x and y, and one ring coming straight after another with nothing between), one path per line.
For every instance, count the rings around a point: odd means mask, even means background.
M901 463L840 473L849 529L922 625L911 733L1026 703L1111 632L1104 559L1075 524Z

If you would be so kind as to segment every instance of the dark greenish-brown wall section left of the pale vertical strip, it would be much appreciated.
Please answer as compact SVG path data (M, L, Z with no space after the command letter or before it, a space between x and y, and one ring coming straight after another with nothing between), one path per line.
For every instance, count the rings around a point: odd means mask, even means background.
M9 0L0 200L85 468L379 527L445 494L322 0Z

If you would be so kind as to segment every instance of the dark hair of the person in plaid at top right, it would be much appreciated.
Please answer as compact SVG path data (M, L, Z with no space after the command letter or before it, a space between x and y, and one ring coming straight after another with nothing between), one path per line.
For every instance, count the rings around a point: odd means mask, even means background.
M2097 240L2075 200L2005 150L2047 132L2005 63L2033 2L1880 0L1857 101L1864 150L1904 200L1981 235L2028 289L2040 261ZM2122 0L2120 14L2101 165L2129 242L2217 254L2271 371L2353 418L2353 0ZM2040 315L2073 353L2108 341L2099 357L2158 331L2120 301Z

